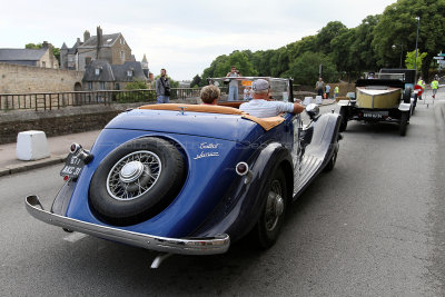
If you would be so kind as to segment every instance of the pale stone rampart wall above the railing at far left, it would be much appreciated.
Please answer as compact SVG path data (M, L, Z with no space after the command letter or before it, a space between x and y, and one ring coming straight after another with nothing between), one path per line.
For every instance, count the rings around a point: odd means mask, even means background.
M73 91L83 71L0 63L0 93Z

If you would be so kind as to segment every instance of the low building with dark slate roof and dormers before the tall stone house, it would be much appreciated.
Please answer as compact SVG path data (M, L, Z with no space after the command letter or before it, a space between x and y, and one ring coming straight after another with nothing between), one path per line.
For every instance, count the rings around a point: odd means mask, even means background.
M107 60L93 60L83 75L83 89L121 90L128 82L147 81L141 62L126 61L122 65L110 65Z

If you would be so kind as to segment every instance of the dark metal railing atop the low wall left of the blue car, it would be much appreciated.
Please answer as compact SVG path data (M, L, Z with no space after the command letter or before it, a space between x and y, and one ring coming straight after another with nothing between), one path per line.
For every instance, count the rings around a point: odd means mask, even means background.
M198 88L174 88L170 99L199 97ZM69 106L156 102L156 90L0 93L0 110L52 110Z

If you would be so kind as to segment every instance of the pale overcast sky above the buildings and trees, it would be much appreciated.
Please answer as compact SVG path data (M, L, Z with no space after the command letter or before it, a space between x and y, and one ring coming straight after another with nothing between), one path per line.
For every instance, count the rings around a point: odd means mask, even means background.
M0 48L43 40L72 47L83 31L121 32L150 71L176 80L201 75L220 55L277 49L317 33L329 21L358 26L396 0L77 0L8 1L0 8ZM229 70L229 69L228 69Z

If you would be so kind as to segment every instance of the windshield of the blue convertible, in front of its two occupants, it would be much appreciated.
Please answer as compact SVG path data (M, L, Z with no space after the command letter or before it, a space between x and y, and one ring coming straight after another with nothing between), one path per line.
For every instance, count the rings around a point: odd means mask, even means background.
M219 101L249 101L253 99L251 83L257 79L265 79L269 82L269 96L271 99L293 102L289 79L269 77L226 77L208 78L207 81L209 85L215 85L221 90Z

